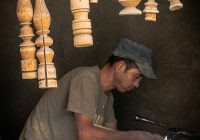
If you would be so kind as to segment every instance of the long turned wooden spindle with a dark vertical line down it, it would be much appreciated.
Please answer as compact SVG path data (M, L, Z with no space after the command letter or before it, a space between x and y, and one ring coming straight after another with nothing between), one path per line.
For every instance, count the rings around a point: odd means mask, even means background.
M48 36L51 17L44 0L36 0L33 22L39 37L36 39L36 46L40 47L36 55L40 62L38 66L39 88L57 87L56 69L54 66L54 51L49 48L53 40Z

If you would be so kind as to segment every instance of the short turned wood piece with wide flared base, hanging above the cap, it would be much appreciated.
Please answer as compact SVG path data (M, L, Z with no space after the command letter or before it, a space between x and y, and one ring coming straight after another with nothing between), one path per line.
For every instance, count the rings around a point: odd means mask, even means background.
M119 3L125 8L120 11L120 16L141 15L142 12L136 8L141 0L119 0Z

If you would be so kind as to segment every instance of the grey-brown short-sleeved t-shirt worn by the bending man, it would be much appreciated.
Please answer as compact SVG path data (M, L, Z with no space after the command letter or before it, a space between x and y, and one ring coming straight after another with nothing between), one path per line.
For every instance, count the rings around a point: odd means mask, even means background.
M79 67L49 89L30 114L20 140L78 140L74 112L88 116L94 124L116 122L113 96L105 94L97 66Z

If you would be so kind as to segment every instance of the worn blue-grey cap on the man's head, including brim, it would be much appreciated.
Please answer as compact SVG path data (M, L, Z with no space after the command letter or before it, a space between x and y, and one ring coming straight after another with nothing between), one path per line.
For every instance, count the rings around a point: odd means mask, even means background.
M139 71L149 79L158 79L152 68L153 51L137 42L122 39L113 55L135 61Z

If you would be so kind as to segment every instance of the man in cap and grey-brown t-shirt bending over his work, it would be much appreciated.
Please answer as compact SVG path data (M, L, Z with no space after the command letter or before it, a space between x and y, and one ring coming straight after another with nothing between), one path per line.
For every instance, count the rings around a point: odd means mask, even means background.
M80 67L48 90L28 118L20 140L163 140L143 131L118 131L111 90L137 88L142 75L157 79L152 51L123 39L102 69Z

